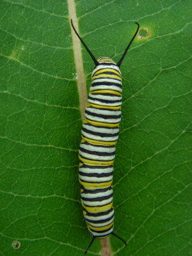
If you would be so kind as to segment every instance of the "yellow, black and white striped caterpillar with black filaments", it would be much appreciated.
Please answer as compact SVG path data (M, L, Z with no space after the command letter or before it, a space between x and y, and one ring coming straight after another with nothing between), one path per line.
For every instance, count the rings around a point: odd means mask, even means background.
M81 204L88 230L92 234L86 252L94 239L112 234L127 243L113 231L113 162L115 145L118 140L122 104L122 74L120 65L136 37L140 25L118 61L108 57L96 59L81 36L74 28L86 51L90 54L95 68L92 72L92 85L88 104L84 113L81 130L82 140L79 147L79 182L81 184Z

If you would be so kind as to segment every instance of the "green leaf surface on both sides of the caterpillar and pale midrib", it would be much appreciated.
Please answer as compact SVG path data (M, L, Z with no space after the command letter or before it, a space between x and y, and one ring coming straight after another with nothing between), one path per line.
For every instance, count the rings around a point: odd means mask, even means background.
M0 252L83 255L92 237L79 196L73 1L0 3ZM118 61L141 26L121 66L113 188L115 232L128 245L111 236L116 256L191 255L191 9L189 0L76 1L96 57ZM89 88L84 48L83 65ZM95 241L89 255L99 251Z

